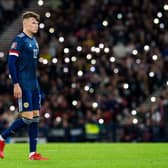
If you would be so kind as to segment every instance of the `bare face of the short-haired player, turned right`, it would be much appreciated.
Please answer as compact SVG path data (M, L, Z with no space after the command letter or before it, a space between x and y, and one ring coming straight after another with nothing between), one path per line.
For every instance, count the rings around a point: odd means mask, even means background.
M31 34L37 33L37 31L38 31L38 24L39 24L39 22L35 18L33 18L33 17L25 19L24 23L23 23L23 25L26 28L26 30L29 33L31 33Z

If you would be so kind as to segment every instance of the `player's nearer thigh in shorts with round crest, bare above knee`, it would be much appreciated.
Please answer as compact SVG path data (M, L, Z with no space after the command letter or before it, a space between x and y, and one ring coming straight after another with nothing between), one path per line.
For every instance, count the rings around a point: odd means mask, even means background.
M22 97L18 99L19 112L22 117L33 118L32 93L22 89Z

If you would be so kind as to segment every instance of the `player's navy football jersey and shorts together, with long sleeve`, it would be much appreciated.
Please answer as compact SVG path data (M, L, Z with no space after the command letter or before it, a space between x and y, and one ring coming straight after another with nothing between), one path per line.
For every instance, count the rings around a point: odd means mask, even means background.
M40 109L41 95L36 76L38 55L39 47L34 37L22 32L14 38L8 67L13 84L19 83L22 89L22 97L18 99L20 112Z

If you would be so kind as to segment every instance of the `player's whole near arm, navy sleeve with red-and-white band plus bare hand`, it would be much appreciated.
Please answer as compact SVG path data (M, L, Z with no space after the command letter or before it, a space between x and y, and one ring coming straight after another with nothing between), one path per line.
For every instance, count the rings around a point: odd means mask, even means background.
M16 68L16 62L18 60L20 50L21 50L21 40L20 38L16 38L11 45L8 56L8 68L14 85L13 94L14 97L16 98L22 97L22 89L19 85L17 68Z

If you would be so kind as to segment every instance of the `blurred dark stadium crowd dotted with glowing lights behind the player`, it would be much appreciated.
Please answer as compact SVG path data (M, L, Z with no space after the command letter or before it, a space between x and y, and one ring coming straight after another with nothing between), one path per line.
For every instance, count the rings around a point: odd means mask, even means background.
M48 141L167 141L166 1L61 0L57 8L40 8L40 136ZM6 61L0 66L3 130L17 104Z

